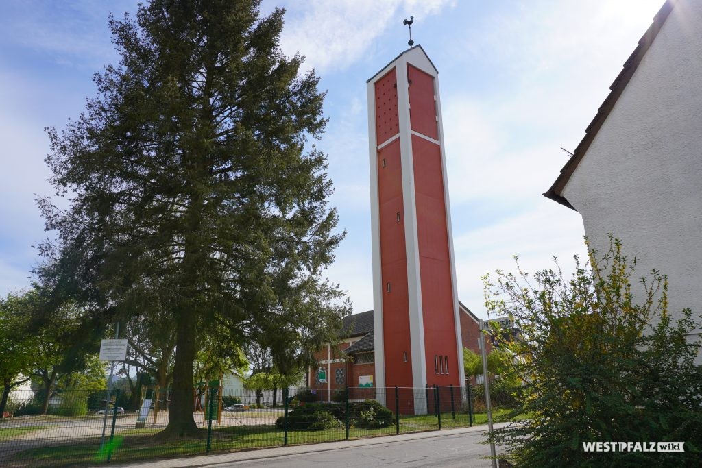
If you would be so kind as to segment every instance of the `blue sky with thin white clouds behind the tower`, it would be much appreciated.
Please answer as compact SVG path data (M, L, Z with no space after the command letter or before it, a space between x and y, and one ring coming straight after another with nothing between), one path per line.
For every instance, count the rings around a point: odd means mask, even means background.
M568 274L581 216L545 199L663 0L264 0L286 8L284 53L322 77L329 159L346 238L326 272L354 312L373 308L366 80L412 36L439 70L458 298L486 317L481 276ZM44 237L45 127L63 128L117 63L107 28L136 1L0 2L0 295L29 285Z

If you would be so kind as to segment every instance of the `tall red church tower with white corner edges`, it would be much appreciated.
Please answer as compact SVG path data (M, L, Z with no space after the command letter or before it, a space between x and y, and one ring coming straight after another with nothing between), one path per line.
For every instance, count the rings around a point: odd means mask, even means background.
M368 81L377 387L465 385L437 69L421 46ZM413 403L426 411L422 396Z

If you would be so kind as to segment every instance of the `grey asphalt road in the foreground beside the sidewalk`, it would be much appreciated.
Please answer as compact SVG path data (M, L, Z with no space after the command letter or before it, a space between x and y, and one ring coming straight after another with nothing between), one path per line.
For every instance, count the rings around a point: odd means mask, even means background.
M484 434L446 434L425 439L373 444L368 446L338 448L324 452L301 453L283 457L241 462L206 464L201 467L377 467L402 464L403 467L491 467L490 446L480 443Z

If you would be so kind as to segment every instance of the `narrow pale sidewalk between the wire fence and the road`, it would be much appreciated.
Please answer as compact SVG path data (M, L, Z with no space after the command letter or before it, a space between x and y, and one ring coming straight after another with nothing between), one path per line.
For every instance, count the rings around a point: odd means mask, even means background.
M495 429L505 427L508 423L494 424ZM444 429L441 431L413 432L397 436L372 437L369 439L354 439L350 441L314 443L305 446L288 446L276 448L263 448L260 450L246 450L233 453L217 453L213 455L197 455L195 457L178 457L169 460L145 460L144 462L110 464L113 467L150 467L150 468L186 468L204 467L220 463L244 462L249 460L265 460L267 458L284 457L286 455L299 455L300 453L326 452L340 448L353 448L360 446L380 445L383 443L411 441L416 439L430 439L432 437L451 436L456 434L472 434L486 432L487 424L473 427L459 427L457 429Z

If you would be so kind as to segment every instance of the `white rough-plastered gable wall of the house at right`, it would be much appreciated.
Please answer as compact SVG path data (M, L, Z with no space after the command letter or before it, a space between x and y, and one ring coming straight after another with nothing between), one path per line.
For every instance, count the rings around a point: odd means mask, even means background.
M593 247L614 233L672 314L702 314L702 1L677 1L563 195Z

